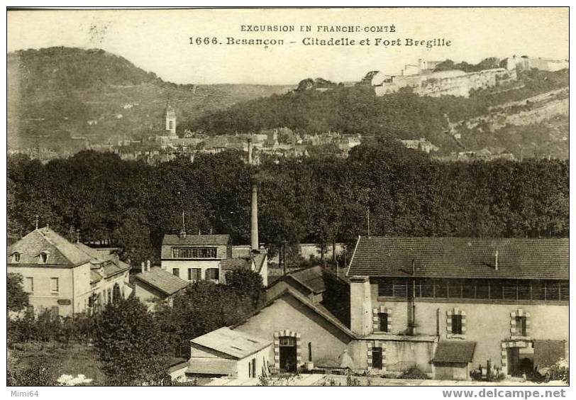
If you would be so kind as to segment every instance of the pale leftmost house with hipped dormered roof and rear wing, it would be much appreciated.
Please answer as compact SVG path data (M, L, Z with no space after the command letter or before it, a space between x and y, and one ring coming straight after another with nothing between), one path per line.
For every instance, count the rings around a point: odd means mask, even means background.
M36 228L8 248L8 273L20 274L30 308L58 316L92 313L131 294L130 265L118 255L70 242L54 230Z

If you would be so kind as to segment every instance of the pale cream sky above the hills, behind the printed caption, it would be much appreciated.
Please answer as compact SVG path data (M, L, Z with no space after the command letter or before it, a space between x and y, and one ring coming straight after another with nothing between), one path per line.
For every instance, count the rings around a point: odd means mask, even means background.
M248 32L242 26L294 26ZM319 33L317 26L394 26L394 33ZM300 26L311 26L301 32ZM217 43L190 44L193 38ZM226 45L228 38L284 45ZM304 45L304 38L356 45ZM400 39L401 45L374 45ZM406 39L450 40L449 47L406 46ZM370 39L370 45L359 45ZM294 43L289 43L294 42ZM69 46L101 48L178 84L295 84L308 77L362 79L370 70L398 74L419 58L479 62L485 57L568 57L568 11L556 9L193 9L9 11L8 51Z

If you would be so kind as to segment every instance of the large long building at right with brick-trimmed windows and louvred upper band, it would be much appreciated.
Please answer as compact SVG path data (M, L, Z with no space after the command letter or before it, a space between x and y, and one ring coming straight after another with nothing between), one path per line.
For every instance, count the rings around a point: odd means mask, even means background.
M469 379L480 365L521 375L566 358L568 255L557 238L358 238L355 367Z

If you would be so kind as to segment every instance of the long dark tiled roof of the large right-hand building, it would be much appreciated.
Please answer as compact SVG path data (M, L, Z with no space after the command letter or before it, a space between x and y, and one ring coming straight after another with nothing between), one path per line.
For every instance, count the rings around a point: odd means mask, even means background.
M568 239L360 237L347 276L568 279ZM495 268L498 252L498 269Z

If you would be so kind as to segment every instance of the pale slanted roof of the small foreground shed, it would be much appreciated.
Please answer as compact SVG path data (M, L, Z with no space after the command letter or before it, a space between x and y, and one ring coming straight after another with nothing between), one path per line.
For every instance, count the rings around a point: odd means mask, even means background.
M272 340L255 338L238 330L220 328L190 340L196 345L204 346L230 355L238 360L254 354L272 344Z

